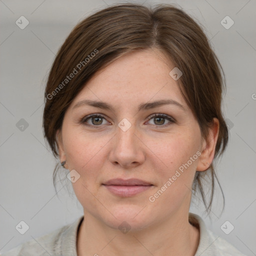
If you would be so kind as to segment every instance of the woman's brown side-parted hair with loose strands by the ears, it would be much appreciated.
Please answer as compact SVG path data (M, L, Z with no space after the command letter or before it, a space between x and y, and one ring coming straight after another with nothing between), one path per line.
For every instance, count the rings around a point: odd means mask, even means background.
M179 88L204 138L212 119L219 120L214 159L223 153L228 141L227 125L221 111L224 73L202 28L181 8L170 4L152 8L123 3L99 10L79 22L56 54L45 88L43 112L44 137L56 158L56 131L61 128L66 109L86 82L118 57L146 49L161 50L182 71ZM70 75L70 79L65 80L71 73L74 74L72 78ZM213 165L214 162L207 170L196 171L192 186L193 192L199 190L208 213L214 178L218 182ZM59 166L56 164L53 171L54 187ZM205 175L211 179L208 203L202 182Z

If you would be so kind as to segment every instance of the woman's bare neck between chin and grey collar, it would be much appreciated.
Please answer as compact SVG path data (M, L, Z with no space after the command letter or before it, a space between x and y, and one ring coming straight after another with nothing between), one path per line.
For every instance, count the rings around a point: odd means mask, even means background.
M77 256L152 254L193 256L199 243L199 230L188 222L188 213L171 216L142 230L120 232L84 214L77 235Z

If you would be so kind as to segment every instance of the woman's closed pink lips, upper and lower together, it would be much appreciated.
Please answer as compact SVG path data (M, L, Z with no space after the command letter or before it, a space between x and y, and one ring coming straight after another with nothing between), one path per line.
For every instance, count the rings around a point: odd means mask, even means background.
M121 197L129 197L136 195L153 186L151 183L147 181L136 178L109 179L108 181L104 182L103 185L108 189L108 191Z

